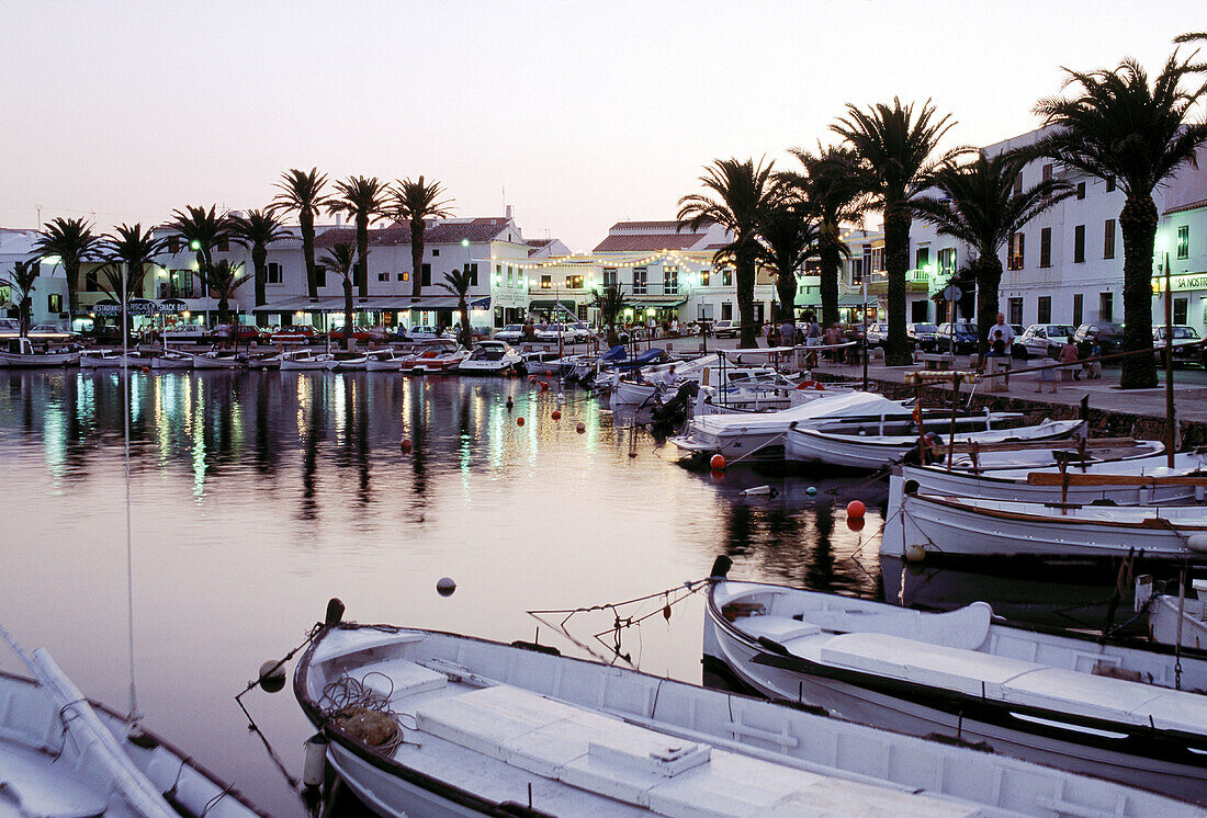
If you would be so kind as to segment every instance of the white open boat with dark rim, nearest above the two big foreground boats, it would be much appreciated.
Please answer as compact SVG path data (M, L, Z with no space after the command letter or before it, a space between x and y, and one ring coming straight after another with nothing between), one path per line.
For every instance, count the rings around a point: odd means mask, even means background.
M880 553L891 556L1126 557L1207 565L1207 508L1024 503L979 497L900 492L899 525L885 526ZM890 506L890 514L894 509Z

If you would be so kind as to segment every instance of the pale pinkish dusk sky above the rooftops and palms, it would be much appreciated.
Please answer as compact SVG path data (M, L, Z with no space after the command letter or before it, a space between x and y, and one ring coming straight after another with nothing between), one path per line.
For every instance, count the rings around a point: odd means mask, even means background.
M262 206L317 166L589 251L713 159L793 166L849 103L929 98L986 145L1062 65L1156 72L1203 28L1201 0L0 0L0 227Z

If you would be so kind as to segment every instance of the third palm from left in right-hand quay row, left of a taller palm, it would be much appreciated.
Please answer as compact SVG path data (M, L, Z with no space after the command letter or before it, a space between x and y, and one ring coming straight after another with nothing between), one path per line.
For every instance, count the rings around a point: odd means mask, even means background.
M817 153L791 148L803 174L786 174L817 218L817 259L821 262L822 326L838 322L838 281L842 257L851 249L842 241L842 226L863 221L863 195L852 183L855 154L842 146L817 147Z

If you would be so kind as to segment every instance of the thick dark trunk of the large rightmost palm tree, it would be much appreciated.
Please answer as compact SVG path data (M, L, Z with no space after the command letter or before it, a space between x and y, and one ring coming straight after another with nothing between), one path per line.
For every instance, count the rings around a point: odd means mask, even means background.
M1156 243L1156 205L1150 194L1129 195L1119 214L1124 234L1124 350L1153 346L1153 247ZM1156 386L1156 360L1133 355L1123 360L1120 388Z

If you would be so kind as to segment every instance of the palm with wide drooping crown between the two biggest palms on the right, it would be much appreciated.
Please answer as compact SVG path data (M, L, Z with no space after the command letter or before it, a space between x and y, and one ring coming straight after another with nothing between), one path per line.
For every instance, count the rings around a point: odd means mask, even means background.
M940 195L914 200L919 218L939 233L967 244L976 257L968 273L976 282L976 316L980 351L989 347L989 333L998 311L1002 259L998 252L1010 236L1054 204L1073 195L1077 188L1059 179L1014 192L1014 183L1026 159L1016 153L985 153L967 164L945 163L934 173Z

